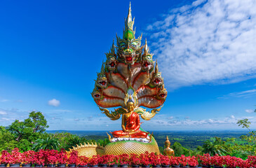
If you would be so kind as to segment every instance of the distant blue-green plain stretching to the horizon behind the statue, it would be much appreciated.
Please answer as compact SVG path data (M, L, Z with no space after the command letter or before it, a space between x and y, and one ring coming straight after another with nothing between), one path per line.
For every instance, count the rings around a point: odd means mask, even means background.
M88 140L95 139L107 139L106 131L69 131L69 130L49 130L48 133L56 132L69 132L71 134L76 134L79 137L85 137ZM152 132L152 131L149 131ZM210 139L213 140L214 137L220 137L223 140L229 138L239 139L241 135L248 134L245 130L213 130L213 131L154 131L154 137L159 144L159 146L164 146L166 141L166 136L169 137L170 143L174 144L179 142L185 148L194 150L197 146L202 146L203 142ZM239 144L245 142L241 141Z

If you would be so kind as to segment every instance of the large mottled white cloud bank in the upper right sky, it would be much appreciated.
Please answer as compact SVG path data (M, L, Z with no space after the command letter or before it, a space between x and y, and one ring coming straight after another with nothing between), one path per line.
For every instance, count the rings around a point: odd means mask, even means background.
M255 8L255 0L200 0L149 25L166 83L175 88L255 78Z

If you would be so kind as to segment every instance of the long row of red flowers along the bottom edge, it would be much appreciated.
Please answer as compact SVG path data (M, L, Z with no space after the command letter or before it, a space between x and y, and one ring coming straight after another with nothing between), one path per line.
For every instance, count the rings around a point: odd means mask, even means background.
M86 158L86 156L78 156L76 151L67 155L65 150L39 150L26 151L20 153L18 148L13 149L11 153L2 151L0 155L0 165L35 165L37 167L84 167L86 165L99 167L114 167L119 165L121 167L256 167L256 156L248 156L247 160L241 158L215 155L211 157L209 154L185 157L168 157L164 155L156 155L154 153L123 154L123 155L95 155L93 158Z

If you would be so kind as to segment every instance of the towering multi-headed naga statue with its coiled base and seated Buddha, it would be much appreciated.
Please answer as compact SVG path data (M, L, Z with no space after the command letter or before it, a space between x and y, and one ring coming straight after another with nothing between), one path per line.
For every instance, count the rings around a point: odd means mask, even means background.
M157 62L149 52L147 40L142 45L142 36L135 38L131 8L125 19L123 38L116 36L112 48L106 53L107 60L97 73L95 88L91 93L100 111L111 120L121 118L122 130L108 134L105 148L97 144L84 144L74 147L79 155L90 156L86 148L95 148L95 154L119 155L123 153L159 153L159 146L149 132L142 130L140 117L150 120L161 110L167 91ZM150 112L141 106L152 109ZM107 108L119 107L114 111ZM94 147L92 147L94 146ZM72 151L71 150L71 151ZM92 154L91 154L92 155Z

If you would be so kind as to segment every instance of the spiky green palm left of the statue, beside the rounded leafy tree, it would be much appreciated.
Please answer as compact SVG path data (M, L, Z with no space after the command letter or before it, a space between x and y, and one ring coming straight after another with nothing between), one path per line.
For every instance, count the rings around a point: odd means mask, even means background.
M60 142L56 138L47 137L46 139L37 139L33 145L34 151L39 149L55 149L57 150L60 146Z

